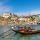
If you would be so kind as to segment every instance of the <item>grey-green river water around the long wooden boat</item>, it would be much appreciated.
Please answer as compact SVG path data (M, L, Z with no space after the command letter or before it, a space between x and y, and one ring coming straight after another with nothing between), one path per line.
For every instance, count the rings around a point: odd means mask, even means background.
M5 26L0 25L0 34L8 31L9 29L11 30L10 27L11 25L5 25ZM36 30L40 29L40 25L33 25L32 27L35 28ZM0 40L40 40L40 33L32 35L22 35L19 33L15 33L11 30L8 33L2 34L2 36L0 36Z

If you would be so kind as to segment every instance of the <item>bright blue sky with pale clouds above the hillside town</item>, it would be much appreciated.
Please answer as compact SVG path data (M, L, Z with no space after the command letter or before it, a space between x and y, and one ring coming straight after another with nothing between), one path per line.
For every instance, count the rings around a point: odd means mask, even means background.
M3 12L17 15L40 14L40 0L0 0L0 14Z

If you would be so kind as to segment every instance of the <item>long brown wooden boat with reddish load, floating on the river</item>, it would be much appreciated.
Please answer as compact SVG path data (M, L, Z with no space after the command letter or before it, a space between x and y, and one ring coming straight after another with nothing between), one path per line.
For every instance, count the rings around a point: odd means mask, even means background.
M21 34L35 34L35 33L40 33L40 30L35 30L35 29L32 29L29 27L29 29L25 29L24 27L21 29L18 29L18 30L14 30L12 29L13 31L17 32L17 33L21 33Z

